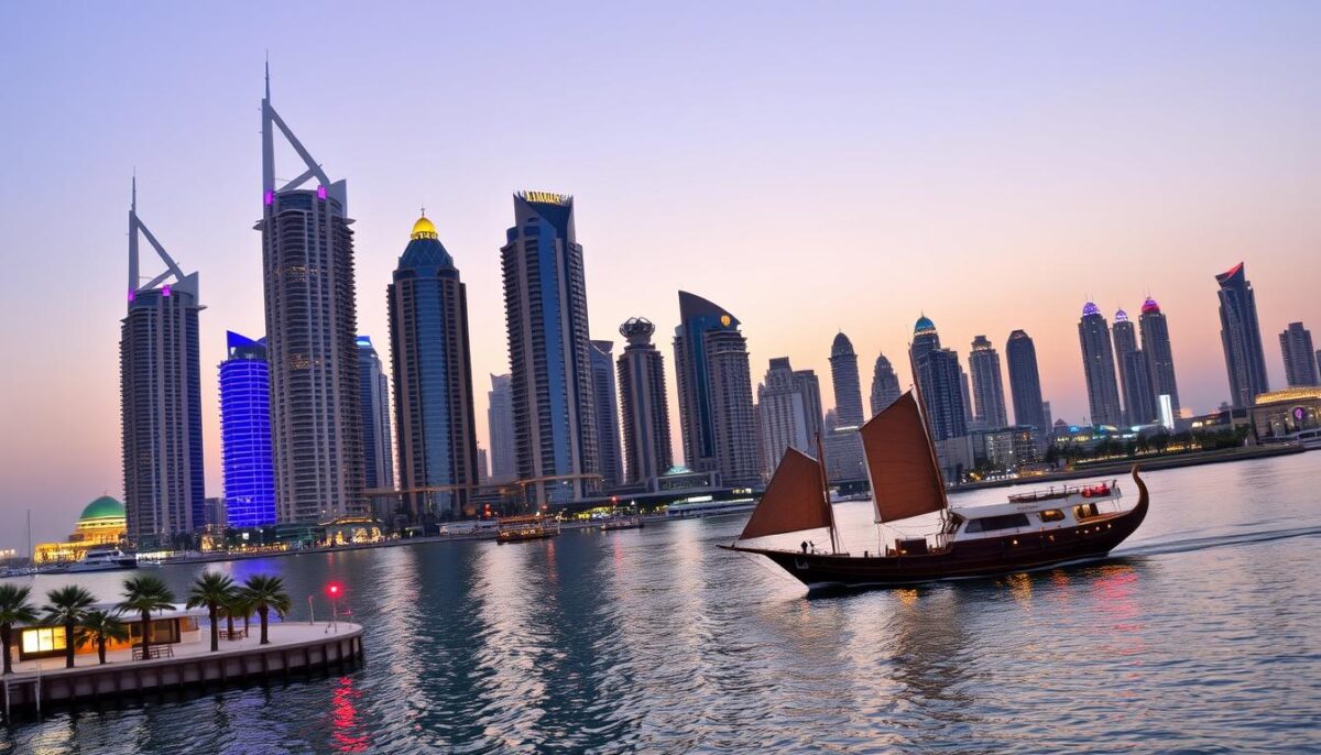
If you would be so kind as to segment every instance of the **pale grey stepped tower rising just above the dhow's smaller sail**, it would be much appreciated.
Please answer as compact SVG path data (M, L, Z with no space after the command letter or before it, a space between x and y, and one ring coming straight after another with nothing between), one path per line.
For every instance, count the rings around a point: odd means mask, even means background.
M794 370L787 356L770 360L765 381L757 387L762 471L770 475L793 446L816 455L820 432L820 383L811 370Z

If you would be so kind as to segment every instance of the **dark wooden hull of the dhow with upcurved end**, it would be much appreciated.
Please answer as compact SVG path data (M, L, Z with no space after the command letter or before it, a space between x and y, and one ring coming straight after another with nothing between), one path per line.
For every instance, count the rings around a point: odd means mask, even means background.
M1095 561L1106 557L1147 517L1147 484L1137 483L1137 504L1124 512L1089 519L1075 527L1041 529L1000 537L964 540L948 548L910 556L848 556L802 553L723 545L729 550L770 558L810 589L816 587L896 587L939 579L992 577L1061 564Z

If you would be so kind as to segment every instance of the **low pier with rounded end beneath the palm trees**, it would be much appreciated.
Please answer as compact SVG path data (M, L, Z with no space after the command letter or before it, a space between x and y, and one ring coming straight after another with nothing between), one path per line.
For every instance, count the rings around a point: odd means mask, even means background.
M254 634L256 627L254 627ZM49 707L119 702L125 697L165 692L189 692L267 680L285 680L295 673L341 672L363 660L362 627L339 622L338 627L277 623L269 628L268 644L256 636L221 640L210 652L210 641L166 645L169 656L132 660L131 651L78 656L74 668L62 660L24 661L0 681L0 710L7 721L16 714L40 714ZM41 664L38 668L38 663Z

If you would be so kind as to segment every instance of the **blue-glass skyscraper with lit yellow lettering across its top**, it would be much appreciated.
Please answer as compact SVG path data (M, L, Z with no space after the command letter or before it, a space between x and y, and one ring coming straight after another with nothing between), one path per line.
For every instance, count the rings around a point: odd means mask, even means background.
M573 198L514 195L501 248L518 478L528 504L568 503L601 487L583 247Z

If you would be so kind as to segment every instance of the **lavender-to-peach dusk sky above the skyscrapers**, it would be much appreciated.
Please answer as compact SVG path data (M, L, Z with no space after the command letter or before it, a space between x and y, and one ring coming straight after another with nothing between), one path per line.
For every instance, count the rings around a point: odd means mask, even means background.
M712 8L711 5L719 5ZM129 176L201 276L207 495L222 494L225 331L264 333L262 66L357 219L359 333L425 205L468 285L485 447L509 370L498 249L515 190L573 194L593 338L658 326L679 289L744 323L754 379L843 329L864 395L908 384L913 322L966 360L1037 343L1081 421L1094 300L1169 317L1185 405L1229 397L1214 275L1244 260L1272 387L1277 334L1321 327L1321 4L375 3L9 5L0 24L0 549L123 495L119 319ZM301 165L284 156L280 177ZM144 256L144 273L156 272ZM1321 337L1321 333L1318 333ZM678 407L671 397L678 433ZM675 438L676 451L682 449Z

